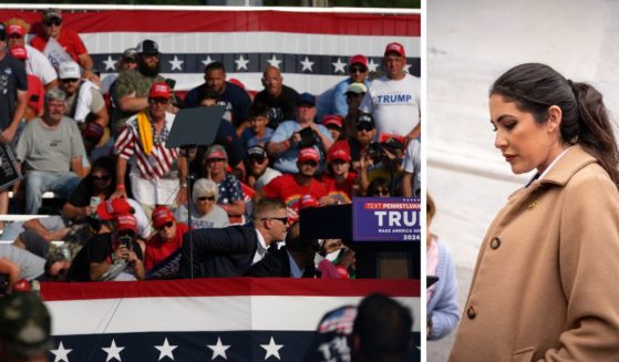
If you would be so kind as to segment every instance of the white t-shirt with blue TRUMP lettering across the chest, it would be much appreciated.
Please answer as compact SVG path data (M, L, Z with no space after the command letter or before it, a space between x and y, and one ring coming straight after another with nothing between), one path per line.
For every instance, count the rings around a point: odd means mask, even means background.
M372 114L376 134L407 135L420 123L420 79L405 74L399 81L386 75L372 81L359 110Z

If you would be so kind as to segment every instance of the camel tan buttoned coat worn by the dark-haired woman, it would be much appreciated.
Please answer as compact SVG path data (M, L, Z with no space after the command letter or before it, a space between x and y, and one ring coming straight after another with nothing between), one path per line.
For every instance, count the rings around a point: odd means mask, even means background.
M619 361L619 193L580 146L492 223L450 361Z

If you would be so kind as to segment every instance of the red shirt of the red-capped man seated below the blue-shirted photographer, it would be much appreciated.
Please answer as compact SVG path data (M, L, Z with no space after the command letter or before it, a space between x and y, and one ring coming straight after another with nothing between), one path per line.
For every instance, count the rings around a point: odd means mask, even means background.
M291 215L292 217L299 211L299 199L301 196L311 194L318 199L322 196L327 196L327 188L318 179L312 178L308 186L301 186L297 184L295 176L291 174L277 176L262 187L262 192L269 198L279 198L282 200L288 207L288 210L293 213Z

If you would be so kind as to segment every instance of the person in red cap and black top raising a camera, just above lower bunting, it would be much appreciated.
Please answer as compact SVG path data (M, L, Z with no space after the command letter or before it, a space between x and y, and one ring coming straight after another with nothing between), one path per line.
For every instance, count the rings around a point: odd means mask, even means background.
M99 204L99 231L73 259L69 281L144 279L144 254L133 213L124 198Z

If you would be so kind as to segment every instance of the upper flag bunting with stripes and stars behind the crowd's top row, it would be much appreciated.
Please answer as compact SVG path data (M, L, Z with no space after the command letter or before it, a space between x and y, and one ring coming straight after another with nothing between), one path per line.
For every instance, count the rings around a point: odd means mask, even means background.
M103 77L114 73L114 62L125 49L155 40L163 75L176 80L180 91L203 83L205 64L221 61L228 79L241 81L250 91L262 89L262 71L275 65L285 84L320 94L347 76L348 60L354 54L367 55L370 71L380 72L384 48L393 41L406 50L407 71L420 75L421 17L413 11L204 9L63 9L63 24L79 32ZM12 17L32 24L31 33L42 31L39 12L0 10L0 21Z

